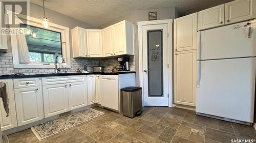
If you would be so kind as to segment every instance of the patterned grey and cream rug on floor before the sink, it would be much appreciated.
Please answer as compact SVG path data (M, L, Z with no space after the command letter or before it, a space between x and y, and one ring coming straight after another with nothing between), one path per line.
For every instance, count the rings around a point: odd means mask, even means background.
M58 119L46 122L38 126L31 127L31 130L39 140L42 140L56 133L67 130L75 125L99 117L103 114L104 113L101 111L90 108L60 117Z

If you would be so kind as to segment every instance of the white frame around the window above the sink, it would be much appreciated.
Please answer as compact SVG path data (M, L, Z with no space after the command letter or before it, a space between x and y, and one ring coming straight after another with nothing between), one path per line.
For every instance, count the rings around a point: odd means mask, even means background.
M11 13L11 12L9 12ZM11 15L8 15L8 19L11 20ZM70 38L69 38L69 31L70 28L62 25L58 25L55 23L50 23L49 28L44 28L41 24L41 19L26 16L19 14L18 17L15 16L15 21L23 20L27 22L24 24L39 27L45 30L55 31L59 32L61 34L61 51L62 51L62 57L65 59L66 63L58 63L58 67L60 68L71 68L71 58L70 58ZM9 21L11 23L11 21ZM18 49L17 49L17 38L16 34L10 34L11 37L11 47L12 47L12 55L13 55L13 68L18 69L26 69L26 68L55 68L55 63L35 63L31 62L29 64L19 64L19 58L18 58Z

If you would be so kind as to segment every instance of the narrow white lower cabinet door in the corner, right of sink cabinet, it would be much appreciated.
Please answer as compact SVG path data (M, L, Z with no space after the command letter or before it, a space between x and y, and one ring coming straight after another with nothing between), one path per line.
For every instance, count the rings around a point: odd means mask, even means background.
M95 75L87 75L88 81L88 104L96 103Z

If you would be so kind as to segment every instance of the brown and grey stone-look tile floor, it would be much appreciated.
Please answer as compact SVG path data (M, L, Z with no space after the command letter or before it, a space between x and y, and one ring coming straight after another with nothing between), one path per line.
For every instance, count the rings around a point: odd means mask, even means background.
M10 142L231 142L256 139L252 127L197 116L194 111L170 107L144 107L140 117L119 116L94 107L104 115L39 141L27 129L9 135Z

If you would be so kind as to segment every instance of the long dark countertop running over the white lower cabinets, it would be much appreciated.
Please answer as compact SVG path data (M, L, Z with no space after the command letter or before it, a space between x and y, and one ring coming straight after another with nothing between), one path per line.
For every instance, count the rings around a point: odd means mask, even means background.
M7 79L7 78L48 77L48 76L69 76L69 75L88 75L88 74L119 75L119 74L126 74L126 73L135 73L135 71L122 71L122 72L92 72L92 73L50 73L50 74L33 74L33 75L19 75L19 76L0 76L0 79Z

